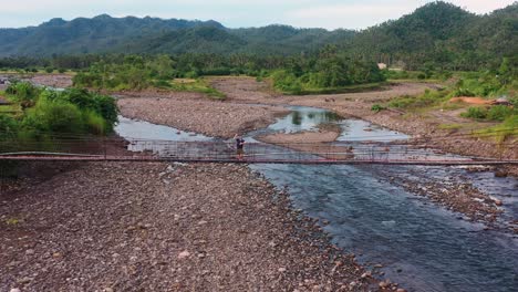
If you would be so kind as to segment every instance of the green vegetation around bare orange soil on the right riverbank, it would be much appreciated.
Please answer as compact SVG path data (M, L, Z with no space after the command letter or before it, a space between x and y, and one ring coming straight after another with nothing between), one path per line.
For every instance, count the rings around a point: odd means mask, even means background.
M386 104L375 104L372 111L387 107L414 114L462 111L460 117L490 122L491 126L481 125L485 128L474 131L478 137L503 143L518 136L518 58L504 58L496 70L457 72L445 84L444 88L427 90L418 96L400 96ZM472 127L469 123L466 125ZM462 124L455 124L455 129L460 128Z

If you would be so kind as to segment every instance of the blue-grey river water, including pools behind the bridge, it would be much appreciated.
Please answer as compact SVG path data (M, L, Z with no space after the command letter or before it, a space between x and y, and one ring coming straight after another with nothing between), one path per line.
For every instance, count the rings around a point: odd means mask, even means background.
M292 113L246 139L271 132L312 131L321 123L342 127L339 140L394 140L406 135L360 119L341 119L324 109L290 107ZM131 140L210 140L146 122L121 118L116 132ZM132 144L133 150L145 144ZM385 278L410 291L518 291L518 238L484 231L480 223L447 211L391 184L386 176L421 171L435 179L456 177L504 200L506 216L518 217L518 181L462 168L417 166L251 165L279 188L287 187L296 208L329 221L335 244L359 255L367 268L382 264ZM410 176L410 175L408 175Z

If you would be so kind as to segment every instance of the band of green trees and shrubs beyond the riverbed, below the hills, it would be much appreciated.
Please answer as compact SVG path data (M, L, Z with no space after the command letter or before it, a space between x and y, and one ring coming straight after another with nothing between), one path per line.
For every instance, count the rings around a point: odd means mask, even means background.
M160 87L203 92L225 98L222 93L200 77L240 74L271 77L276 90L289 94L365 91L377 88L385 81L374 62L354 60L338 52L336 46L327 46L317 55L279 60L210 55L115 56L93 63L80 71L73 81L74 86L91 88L124 91ZM175 79L196 82L174 82Z

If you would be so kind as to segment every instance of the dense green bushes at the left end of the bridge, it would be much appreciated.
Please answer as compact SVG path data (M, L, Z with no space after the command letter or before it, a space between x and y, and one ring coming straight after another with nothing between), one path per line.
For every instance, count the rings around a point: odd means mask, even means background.
M86 90L52 91L18 82L9 85L6 97L21 111L0 113L2 149L13 146L13 140L44 148L55 135L105 135L117 121L115 101Z

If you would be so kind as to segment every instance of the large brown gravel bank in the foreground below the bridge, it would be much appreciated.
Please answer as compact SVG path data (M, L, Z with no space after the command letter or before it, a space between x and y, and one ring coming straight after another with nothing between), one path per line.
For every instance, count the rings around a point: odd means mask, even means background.
M91 163L0 196L1 291L367 291L372 281L242 166Z

